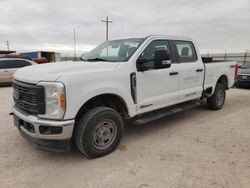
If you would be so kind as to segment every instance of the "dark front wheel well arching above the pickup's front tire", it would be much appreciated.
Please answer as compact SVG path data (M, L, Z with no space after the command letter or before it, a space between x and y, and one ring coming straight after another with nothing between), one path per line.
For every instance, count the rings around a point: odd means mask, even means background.
M78 121L89 109L98 106L113 108L121 114L123 119L127 119L129 117L127 106L121 97L114 94L103 94L89 99L78 111L76 121Z

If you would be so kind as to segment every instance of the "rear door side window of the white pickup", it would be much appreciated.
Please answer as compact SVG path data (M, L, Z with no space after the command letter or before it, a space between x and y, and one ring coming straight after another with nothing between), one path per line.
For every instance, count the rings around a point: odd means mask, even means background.
M197 54L194 44L189 41L174 41L176 47L176 56L179 63L197 61Z

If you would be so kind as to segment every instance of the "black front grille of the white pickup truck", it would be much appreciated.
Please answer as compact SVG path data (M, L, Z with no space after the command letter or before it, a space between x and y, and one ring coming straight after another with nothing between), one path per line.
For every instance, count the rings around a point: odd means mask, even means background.
M45 113L45 90L42 86L14 80L13 99L15 105L29 114Z

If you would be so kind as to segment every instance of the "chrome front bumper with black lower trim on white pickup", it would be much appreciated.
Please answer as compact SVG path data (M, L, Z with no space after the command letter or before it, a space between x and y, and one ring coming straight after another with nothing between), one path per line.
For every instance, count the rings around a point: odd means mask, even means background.
M14 124L21 135L40 149L68 151L74 120L53 121L39 119L13 107Z

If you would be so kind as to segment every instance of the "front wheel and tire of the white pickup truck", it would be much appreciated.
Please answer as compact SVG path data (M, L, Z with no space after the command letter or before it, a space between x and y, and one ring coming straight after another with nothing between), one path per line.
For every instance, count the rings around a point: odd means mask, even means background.
M105 106L93 108L76 124L76 146L87 158L104 156L120 143L123 127L123 120L114 109Z

